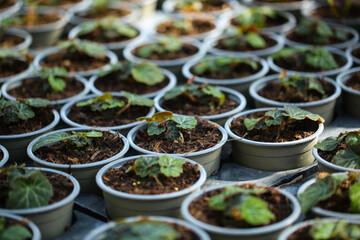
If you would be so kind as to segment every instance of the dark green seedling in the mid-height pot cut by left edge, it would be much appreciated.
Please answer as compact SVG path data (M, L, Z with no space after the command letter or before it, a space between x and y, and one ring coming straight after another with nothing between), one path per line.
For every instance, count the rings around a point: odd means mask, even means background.
M18 99L18 101L0 99L0 117L7 124L25 121L35 117L32 108L46 107L50 102L41 98Z

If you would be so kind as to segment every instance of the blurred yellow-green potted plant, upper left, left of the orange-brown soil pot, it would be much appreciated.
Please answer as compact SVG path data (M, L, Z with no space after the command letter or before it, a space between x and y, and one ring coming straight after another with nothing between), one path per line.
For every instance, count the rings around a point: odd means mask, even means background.
M69 32L69 39L79 38L102 43L110 51L122 57L125 46L141 38L140 30L121 23L115 17L84 22Z

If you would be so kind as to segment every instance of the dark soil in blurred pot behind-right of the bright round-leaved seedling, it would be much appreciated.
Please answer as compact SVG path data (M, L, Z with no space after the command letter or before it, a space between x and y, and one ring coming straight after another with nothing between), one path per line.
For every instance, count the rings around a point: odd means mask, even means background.
M137 54L137 51L144 46L147 46L149 44L142 45L140 47L137 47L134 51L132 51L132 54L134 54L137 57L140 57ZM184 43L182 48L179 51L175 51L172 53L165 52L163 54L153 53L149 58L150 60L173 60L173 59L180 59L180 58L186 58L189 56L194 55L197 53L199 49L191 44Z

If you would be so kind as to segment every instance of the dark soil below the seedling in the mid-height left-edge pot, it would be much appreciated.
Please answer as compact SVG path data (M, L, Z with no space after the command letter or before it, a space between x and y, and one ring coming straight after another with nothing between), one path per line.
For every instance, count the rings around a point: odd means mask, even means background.
M50 108L34 108L35 117L7 124L0 117L0 135L15 135L29 133L48 126L54 120L54 114Z

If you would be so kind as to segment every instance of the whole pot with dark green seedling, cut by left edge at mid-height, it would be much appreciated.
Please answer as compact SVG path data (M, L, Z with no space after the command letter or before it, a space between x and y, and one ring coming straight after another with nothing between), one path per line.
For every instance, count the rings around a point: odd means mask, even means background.
M0 144L9 151L12 162L26 161L26 146L31 140L59 123L58 112L46 107L48 104L38 98L0 99Z

